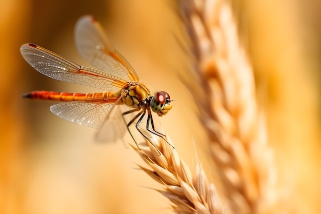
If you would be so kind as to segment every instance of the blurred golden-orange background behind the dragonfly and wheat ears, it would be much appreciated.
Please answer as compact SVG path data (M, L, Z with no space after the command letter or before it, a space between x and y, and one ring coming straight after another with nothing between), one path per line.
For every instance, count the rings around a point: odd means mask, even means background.
M260 108L274 149L277 189L292 213L321 213L321 3L232 1L255 71ZM99 144L94 129L59 119L53 102L21 98L31 90L87 92L39 74L19 53L35 43L88 66L73 39L79 17L92 14L154 90L176 100L162 126L187 164L196 149L214 174L196 104L179 80L188 61L174 1L36 1L0 3L0 213L171 213L160 188L136 164L128 141Z

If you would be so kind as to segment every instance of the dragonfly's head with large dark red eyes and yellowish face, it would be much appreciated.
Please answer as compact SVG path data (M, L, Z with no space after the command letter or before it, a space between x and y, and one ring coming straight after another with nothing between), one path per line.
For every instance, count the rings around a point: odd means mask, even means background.
M152 111L158 114L158 116L165 115L171 108L172 103L170 96L165 91L157 91L151 100Z

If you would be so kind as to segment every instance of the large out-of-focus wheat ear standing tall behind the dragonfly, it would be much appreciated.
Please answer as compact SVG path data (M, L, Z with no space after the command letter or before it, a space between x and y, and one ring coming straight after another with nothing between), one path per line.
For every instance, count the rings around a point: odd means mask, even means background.
M231 5L220 0L178 2L195 62L191 73L195 78L186 81L208 133L227 209L271 213L276 196L272 151Z

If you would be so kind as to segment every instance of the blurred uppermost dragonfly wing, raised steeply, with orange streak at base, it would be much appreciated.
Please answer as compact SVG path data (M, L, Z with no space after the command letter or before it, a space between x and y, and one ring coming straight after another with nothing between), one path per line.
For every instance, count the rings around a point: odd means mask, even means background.
M115 49L92 16L87 15L78 20L75 27L75 41L79 53L93 66L128 82L138 81L138 75L133 67Z

